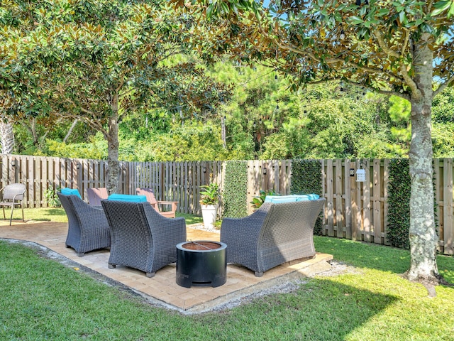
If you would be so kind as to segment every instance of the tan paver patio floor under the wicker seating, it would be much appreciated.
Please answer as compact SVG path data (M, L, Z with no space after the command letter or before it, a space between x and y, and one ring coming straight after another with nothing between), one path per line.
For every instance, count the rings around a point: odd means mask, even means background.
M326 271L331 268L328 262L333 259L329 254L316 254L314 259L299 259L276 266L266 271L262 277L254 276L253 271L243 266L228 264L227 281L223 286L184 288L176 283L175 263L164 266L156 271L153 278L148 278L143 271L126 266L109 269L108 249L87 252L83 257L77 256L74 249L65 247L67 223L30 221L13 222L11 226L8 223L6 221L0 224L0 239L36 243L44 250L49 249L51 252L48 254L52 259L58 259L66 266L87 271L87 274L105 283L115 283L131 289L153 305L187 314L212 310L279 284ZM218 233L188 226L187 240L219 241L220 236Z

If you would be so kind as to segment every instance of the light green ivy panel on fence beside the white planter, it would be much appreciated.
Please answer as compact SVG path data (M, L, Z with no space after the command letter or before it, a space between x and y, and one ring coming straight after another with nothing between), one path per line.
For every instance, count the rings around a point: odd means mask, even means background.
M248 215L248 162L227 161L224 180L224 217Z

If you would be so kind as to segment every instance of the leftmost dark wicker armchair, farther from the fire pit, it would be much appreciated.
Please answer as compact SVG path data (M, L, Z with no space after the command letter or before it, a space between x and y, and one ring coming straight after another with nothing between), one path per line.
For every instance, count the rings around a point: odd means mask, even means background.
M85 252L111 246L109 223L102 207L88 205L77 195L57 195L68 217L66 247L82 257Z

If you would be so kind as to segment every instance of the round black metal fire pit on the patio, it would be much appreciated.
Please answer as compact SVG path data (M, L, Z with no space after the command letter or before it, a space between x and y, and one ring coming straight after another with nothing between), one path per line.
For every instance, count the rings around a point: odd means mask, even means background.
M191 286L222 286L227 280L227 245L197 240L177 245L177 284Z

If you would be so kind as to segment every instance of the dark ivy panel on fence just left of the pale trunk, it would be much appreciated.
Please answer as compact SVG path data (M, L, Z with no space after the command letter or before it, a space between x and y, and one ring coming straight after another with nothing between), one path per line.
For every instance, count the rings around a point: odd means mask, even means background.
M388 181L388 242L393 247L409 249L411 179L409 160L389 162Z

